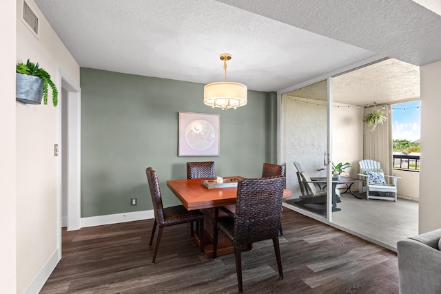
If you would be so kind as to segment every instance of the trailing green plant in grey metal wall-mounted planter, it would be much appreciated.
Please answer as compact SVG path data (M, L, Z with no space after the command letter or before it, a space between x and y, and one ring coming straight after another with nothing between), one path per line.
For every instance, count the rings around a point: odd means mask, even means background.
M52 103L58 104L58 90L50 78L50 74L38 63L28 61L18 63L16 67L17 76L17 100L28 104L48 104L48 87L52 88Z

